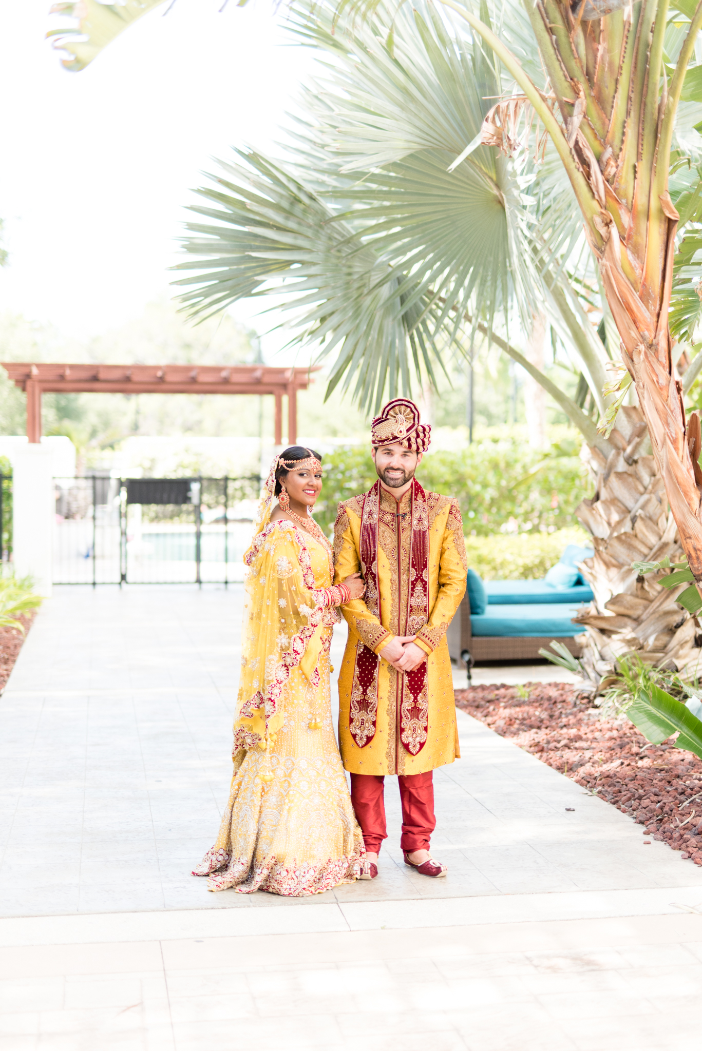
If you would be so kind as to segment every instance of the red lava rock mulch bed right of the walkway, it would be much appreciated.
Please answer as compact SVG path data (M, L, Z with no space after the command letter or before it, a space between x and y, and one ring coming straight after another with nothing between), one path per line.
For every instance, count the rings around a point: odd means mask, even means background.
M702 865L702 762L697 756L665 742L648 744L628 721L599 718L589 701L561 683L472 686L456 691L456 704L619 807L645 826L646 836Z

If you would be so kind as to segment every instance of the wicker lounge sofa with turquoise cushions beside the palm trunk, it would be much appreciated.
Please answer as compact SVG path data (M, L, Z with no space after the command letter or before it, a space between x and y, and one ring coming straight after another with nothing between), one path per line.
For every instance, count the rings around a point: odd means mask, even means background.
M593 592L578 563L593 554L569 544L543 580L482 581L468 570L465 597L448 631L452 660L467 669L468 681L475 661L538 659L551 639L579 652L575 639L585 628L573 618Z

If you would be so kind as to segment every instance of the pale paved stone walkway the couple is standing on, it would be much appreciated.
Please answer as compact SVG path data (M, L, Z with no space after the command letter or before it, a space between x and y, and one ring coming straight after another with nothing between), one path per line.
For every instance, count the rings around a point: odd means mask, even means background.
M373 883L190 877L228 788L240 611L241 585L173 585L40 613L0 701L0 1049L688 1046L702 872L462 713L445 880L402 864L392 782Z

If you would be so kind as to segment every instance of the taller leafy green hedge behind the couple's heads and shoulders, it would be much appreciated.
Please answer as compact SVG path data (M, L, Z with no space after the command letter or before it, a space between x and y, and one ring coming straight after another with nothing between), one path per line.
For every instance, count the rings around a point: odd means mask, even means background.
M466 534L488 537L502 527L546 533L577 527L575 509L590 489L578 453L573 439L541 453L519 437L486 438L457 452L427 453L417 478L458 499ZM339 501L366 492L376 477L365 445L324 456L324 489L315 510L320 524L328 531Z

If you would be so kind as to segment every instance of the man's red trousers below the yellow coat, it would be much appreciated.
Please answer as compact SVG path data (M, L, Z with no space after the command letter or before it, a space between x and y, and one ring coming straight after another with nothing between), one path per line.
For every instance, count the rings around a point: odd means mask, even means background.
M434 817L433 770L426 774L406 774L398 777L402 803L403 850L428 850L429 837L436 828ZM352 803L363 832L365 849L378 853L380 844L387 839L383 783L377 774L352 774Z

